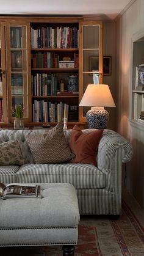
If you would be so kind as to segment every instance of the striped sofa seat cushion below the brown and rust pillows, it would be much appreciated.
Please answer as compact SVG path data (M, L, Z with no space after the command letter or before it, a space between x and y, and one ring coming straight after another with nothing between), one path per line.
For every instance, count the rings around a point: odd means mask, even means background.
M104 188L106 177L92 164L24 164L16 172L18 183L71 183L77 189Z

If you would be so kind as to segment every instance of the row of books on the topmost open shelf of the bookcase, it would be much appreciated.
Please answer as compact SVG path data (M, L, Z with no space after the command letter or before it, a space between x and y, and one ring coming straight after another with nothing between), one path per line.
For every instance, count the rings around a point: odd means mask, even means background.
M31 48L78 48L79 31L73 27L31 28Z

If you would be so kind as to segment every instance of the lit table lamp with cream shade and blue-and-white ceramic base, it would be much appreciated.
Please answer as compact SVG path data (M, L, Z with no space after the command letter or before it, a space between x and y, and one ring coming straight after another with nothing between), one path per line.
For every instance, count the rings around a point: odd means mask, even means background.
M104 107L115 107L107 84L88 84L79 106L90 106L87 112L88 128L105 129L109 112Z

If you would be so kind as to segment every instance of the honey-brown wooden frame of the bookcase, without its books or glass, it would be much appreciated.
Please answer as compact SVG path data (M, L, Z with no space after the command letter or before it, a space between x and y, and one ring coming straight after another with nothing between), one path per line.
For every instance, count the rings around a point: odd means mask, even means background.
M12 93L11 93L11 86L10 86L10 26L26 26L26 34L27 34L27 97L28 97L28 117L25 119L25 123L27 126L35 126L38 123L32 123L32 90L31 90L31 24L33 23L40 23L41 26L43 24L65 24L68 23L77 23L79 27L79 48L77 49L79 54L79 99L78 103L81 101L83 95L83 34L82 34L82 27L83 26L91 26L91 25L99 25L99 74L101 77L99 78L99 83L102 83L103 79L103 23L102 21L84 21L82 16L3 16L0 17L1 22L1 38L2 38L2 82L4 82L4 122L7 122L7 125L12 126L13 117L11 112L12 106ZM4 45L5 43L5 45ZM52 49L49 49L52 51ZM57 49L55 49L57 51ZM41 49L41 51L45 51L45 49ZM48 51L48 49L47 49ZM68 51L68 49L65 49ZM69 97L69 96L68 96ZM48 97L50 98L50 97ZM64 97L63 97L64 98ZM70 97L69 97L70 98ZM71 102L71 100L70 100ZM70 127L73 127L74 123L70 122ZM82 116L82 107L79 107L79 122L77 124L81 126L85 126L86 119ZM53 123L52 125L55 125ZM39 124L40 125L40 124Z

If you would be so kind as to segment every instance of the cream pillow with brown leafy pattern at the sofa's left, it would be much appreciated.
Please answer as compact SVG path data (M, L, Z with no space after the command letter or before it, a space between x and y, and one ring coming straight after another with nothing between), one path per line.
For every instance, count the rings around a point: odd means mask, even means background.
M8 141L0 144L0 166L25 164L21 155L21 147L18 141Z

